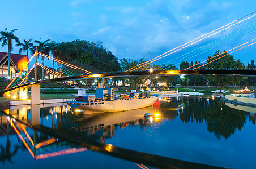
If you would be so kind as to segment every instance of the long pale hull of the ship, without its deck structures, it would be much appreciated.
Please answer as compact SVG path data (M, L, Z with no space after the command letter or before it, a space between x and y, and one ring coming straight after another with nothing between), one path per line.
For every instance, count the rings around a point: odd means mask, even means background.
M140 98L140 99L123 99L123 100L112 100L112 101L104 101L104 104L95 105L85 105L84 103L76 102L68 102L67 104L74 109L83 109L84 114L91 113L105 113L105 112L120 112L126 110L140 109L146 108L147 106L151 106L154 104L159 97L149 97L149 98Z

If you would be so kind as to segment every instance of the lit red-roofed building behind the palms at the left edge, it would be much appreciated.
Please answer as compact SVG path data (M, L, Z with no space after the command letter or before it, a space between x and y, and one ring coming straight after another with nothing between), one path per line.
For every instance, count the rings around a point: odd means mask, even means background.
M11 54L11 74L10 78L14 78L16 73L27 65L27 56L19 54ZM27 71L25 67L24 71ZM0 76L8 78L8 53L0 52Z

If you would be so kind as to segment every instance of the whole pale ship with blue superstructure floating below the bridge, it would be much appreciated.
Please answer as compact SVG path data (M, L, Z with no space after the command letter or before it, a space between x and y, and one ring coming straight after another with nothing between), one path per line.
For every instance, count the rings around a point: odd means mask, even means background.
M84 114L104 113L104 112L120 112L126 110L146 108L159 100L159 96L143 96L132 95L114 98L113 88L105 88L103 84L96 90L95 96L83 97L75 101L68 101L67 104L72 109L83 109ZM139 93L136 93L139 94Z

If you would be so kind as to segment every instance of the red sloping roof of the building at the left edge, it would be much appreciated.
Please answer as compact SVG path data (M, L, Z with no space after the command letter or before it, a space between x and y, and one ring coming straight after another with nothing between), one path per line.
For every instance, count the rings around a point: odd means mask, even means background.
M0 65L8 65L8 53L0 52ZM27 56L11 53L11 64L18 69L23 69L23 66L27 64Z

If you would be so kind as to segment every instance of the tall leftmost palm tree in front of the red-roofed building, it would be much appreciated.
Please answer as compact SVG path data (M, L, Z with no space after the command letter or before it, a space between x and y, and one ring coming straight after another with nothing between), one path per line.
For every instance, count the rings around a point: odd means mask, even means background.
M15 30L18 29L12 29L10 32L8 32L7 27L5 27L5 30L2 30L0 32L0 42L3 41L2 47L8 46L8 77L10 77L10 66L11 66L11 51L12 51L12 40L14 39L17 43L19 42L19 38L14 35Z

